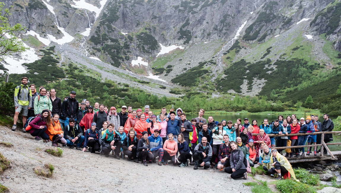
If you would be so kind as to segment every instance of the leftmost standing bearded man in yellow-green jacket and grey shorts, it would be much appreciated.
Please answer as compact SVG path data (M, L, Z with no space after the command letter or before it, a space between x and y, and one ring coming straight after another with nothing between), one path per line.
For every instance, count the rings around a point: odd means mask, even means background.
M14 121L12 126L12 131L15 131L17 129L17 121L18 116L23 109L23 125L26 122L26 116L28 114L28 110L32 107L32 91L27 86L28 78L23 77L21 78L21 84L14 89L14 107L15 107L15 113L14 113Z

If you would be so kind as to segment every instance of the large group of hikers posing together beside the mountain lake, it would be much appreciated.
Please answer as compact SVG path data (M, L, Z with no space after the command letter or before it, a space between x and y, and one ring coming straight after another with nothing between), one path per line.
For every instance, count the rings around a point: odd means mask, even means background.
M96 102L92 107L89 100L76 100L76 92L71 91L69 97L62 101L56 97L56 90L46 91L39 87L36 92L34 84L27 85L28 78L21 79L21 85L14 92L14 124L16 130L18 115L22 111L23 132L28 132L35 140L52 141L77 150L96 151L106 157L112 152L116 159L127 158L158 165L194 166L193 169L216 168L231 174L231 178L247 179L250 167L262 165L263 169L277 179L295 178L291 164L286 157L305 156L305 148L295 148L306 143L321 143L320 135L288 136L288 134L314 133L331 131L333 122L327 114L323 115L323 123L318 116L296 118L295 114L282 115L269 122L268 119L258 125L257 120L249 122L248 118L214 121L212 116L203 118L204 109L200 109L198 117L186 119L181 108L173 108L167 113L162 108L155 115L148 105L144 109L133 110L131 106L122 106L121 112L115 107L110 109ZM47 96L47 93L49 96ZM27 117L29 117L27 119ZM279 134L271 136L268 134ZM324 135L327 143L332 140L331 134ZM292 148L271 149L274 147ZM302 152L302 153L301 153ZM318 152L316 146L307 154ZM168 162L170 161L170 162Z

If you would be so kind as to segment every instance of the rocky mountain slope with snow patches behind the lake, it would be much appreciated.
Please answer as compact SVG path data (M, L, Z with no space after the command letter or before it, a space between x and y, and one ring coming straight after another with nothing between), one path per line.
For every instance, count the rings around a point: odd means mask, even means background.
M100 72L103 81L128 81L159 96L230 93L299 106L311 95L307 107L339 106L339 0L4 3L10 24L27 27L20 38L33 49L18 62L13 58L20 55L5 60L20 72L32 51L56 45L61 64L73 62Z

